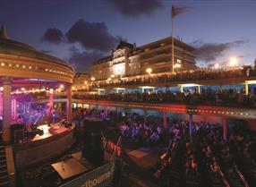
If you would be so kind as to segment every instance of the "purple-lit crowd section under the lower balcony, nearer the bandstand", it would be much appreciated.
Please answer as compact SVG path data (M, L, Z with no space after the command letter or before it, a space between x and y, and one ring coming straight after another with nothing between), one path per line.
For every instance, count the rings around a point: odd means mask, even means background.
M135 114L117 113L115 111L82 109L73 110L73 120L79 126L83 120L98 118L107 121L107 134L122 135L123 141L132 143L147 143L149 145L163 140L164 129L159 117L143 117ZM113 133L115 133L113 135ZM118 134L118 135L116 135Z

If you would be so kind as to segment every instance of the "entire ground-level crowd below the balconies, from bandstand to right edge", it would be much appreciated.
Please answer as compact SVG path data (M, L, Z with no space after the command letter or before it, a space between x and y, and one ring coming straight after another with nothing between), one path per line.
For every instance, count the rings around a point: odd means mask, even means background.
M163 119L156 116L73 108L73 120L78 127L83 120L91 118L108 121L104 131L121 135L124 143L165 146L166 151L159 155L158 165L152 169L159 183L167 182L168 186L175 186L175 183L178 186L208 186L212 183L223 187L256 183L253 173L256 171L256 138L243 125L236 125L229 131L228 139L223 140L219 123L193 122L190 136L186 120L169 118L167 128L163 128ZM107 149L111 149L111 142L108 144ZM25 173L25 177L37 178L42 172L44 169L37 168Z

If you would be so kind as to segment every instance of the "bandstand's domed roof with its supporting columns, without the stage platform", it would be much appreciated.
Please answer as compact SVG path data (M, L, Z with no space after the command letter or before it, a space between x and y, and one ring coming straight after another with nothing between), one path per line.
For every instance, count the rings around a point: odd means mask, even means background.
M66 116L72 120L72 88L73 67L51 55L45 55L18 41L7 38L4 26L0 31L0 76L3 104L3 142L11 141L10 125L17 117L15 114L15 98L19 89L31 92L47 91L49 105L53 105L54 89L60 84L64 85L67 96ZM1 112L0 109L0 112ZM13 109L13 110L12 110ZM13 116L12 116L13 114Z

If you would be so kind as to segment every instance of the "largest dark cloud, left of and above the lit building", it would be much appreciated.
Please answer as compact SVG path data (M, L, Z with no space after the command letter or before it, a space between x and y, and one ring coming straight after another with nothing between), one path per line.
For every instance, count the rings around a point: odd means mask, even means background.
M108 32L105 22L89 22L83 19L75 22L66 33L70 43L79 42L90 50L108 52L115 47L118 38Z

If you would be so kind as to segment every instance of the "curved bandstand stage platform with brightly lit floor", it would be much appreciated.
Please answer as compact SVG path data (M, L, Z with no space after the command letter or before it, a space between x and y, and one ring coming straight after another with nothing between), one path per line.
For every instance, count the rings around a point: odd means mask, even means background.
M43 124L38 129L43 130L44 134L37 134L21 144L13 145L15 166L18 170L56 157L70 149L74 143L74 125L66 128L56 123Z

